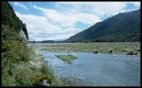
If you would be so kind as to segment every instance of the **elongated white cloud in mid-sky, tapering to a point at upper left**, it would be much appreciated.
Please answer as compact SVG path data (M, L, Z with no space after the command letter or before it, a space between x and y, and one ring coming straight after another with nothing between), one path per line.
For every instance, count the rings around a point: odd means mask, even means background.
M45 9L37 6L33 6L43 12L48 20L55 24L64 24L64 26L73 26L76 22L83 24L94 24L101 21L101 19L92 13L81 13L81 12L60 12L55 9Z

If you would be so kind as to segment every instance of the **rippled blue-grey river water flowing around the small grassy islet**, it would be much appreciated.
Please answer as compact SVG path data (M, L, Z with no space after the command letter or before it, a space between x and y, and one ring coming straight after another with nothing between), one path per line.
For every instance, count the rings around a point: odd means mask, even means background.
M85 86L140 86L138 55L70 53L77 59L68 64L55 56L68 53L41 51L41 54L58 75L80 79Z

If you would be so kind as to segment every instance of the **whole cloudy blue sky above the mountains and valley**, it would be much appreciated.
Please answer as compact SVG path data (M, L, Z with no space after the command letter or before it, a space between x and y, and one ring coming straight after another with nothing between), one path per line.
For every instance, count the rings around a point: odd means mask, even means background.
M9 2L26 24L29 40L65 40L118 13L140 9L140 2Z

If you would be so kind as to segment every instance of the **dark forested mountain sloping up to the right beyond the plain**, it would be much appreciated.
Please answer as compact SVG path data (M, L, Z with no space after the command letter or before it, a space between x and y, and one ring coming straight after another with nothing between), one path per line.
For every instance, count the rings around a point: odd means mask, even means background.
M119 13L71 36L65 42L140 41L140 9Z

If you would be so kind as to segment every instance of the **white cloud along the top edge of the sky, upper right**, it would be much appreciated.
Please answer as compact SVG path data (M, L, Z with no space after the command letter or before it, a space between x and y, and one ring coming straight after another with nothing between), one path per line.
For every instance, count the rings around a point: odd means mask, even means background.
M88 12L93 13L99 17L104 15L112 16L124 11L124 8L128 3L134 4L136 7L140 7L140 2L57 2L57 7L62 5L70 5L70 7L76 10L75 12ZM84 9L85 8L85 9Z

